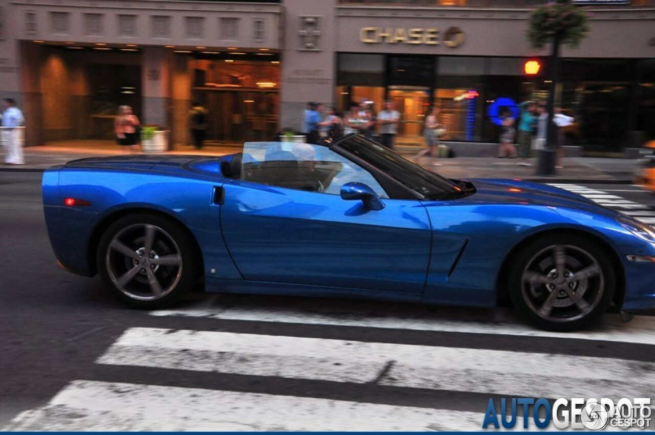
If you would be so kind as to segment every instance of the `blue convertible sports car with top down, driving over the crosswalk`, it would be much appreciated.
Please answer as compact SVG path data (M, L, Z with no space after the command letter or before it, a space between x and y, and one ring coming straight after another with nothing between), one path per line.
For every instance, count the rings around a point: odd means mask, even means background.
M225 157L82 159L43 176L52 247L132 307L208 291L449 305L539 328L655 307L655 232L527 181L447 180L361 136Z

